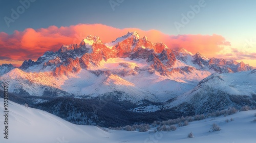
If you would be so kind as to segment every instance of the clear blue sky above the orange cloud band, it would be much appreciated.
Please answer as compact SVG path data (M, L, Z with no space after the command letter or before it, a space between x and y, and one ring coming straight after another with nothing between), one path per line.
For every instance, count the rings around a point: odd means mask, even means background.
M36 0L8 28L4 17L11 17L11 9L16 10L21 4L19 1L2 0L0 29L10 34L14 30L23 31L26 28L102 23L116 28L156 29L170 35L215 33L231 37L233 34L252 35L256 24L256 1L252 0L205 0L206 6L180 32L176 30L174 22L180 22L181 14L186 15L191 10L189 6L198 5L199 0L123 0L114 7L114 11L109 2Z

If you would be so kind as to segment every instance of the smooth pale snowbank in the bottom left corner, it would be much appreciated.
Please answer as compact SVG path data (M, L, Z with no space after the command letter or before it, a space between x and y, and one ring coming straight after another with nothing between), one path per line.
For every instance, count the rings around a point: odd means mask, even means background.
M4 105L2 98L0 103ZM95 126L74 125L48 112L27 108L10 101L8 105L9 135L8 139L5 139L2 133L0 142L105 142L110 134ZM3 106L0 110L3 113ZM1 115L1 130L4 126L3 121Z

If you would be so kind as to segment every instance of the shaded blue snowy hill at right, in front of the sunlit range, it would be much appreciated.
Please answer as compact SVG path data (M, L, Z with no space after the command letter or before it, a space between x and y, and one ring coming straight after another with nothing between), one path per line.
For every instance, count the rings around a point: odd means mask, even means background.
M255 81L255 69L239 73L215 73L165 107L189 104L197 113L204 113L228 107L255 106Z

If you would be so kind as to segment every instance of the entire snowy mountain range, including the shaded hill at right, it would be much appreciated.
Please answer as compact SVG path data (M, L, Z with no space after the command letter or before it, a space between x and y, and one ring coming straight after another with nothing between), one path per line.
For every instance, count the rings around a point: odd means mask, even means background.
M3 64L0 89L7 85L13 94L33 97L33 105L49 101L42 97L112 96L139 105L132 112L172 108L205 113L255 106L253 69L244 62L193 55L182 47L169 49L136 32L109 43L89 35L80 44L62 45L20 67Z

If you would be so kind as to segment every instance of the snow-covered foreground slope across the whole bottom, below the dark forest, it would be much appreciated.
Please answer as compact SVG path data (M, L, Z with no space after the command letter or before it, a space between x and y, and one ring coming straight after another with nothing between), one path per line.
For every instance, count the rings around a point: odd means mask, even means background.
M0 99L3 105L3 99ZM0 106L3 113L3 106ZM112 131L105 132L95 126L74 125L48 112L27 108L9 102L9 139L1 133L0 142L255 142L256 123L251 122L255 110L238 112L233 115L206 118L202 121L189 123L176 131L149 132ZM226 123L225 120L234 121ZM0 118L3 132L3 115ZM213 123L221 130L212 132ZM154 130L154 128L152 129ZM210 132L209 132L210 131ZM193 132L194 138L187 138Z

